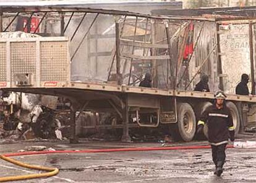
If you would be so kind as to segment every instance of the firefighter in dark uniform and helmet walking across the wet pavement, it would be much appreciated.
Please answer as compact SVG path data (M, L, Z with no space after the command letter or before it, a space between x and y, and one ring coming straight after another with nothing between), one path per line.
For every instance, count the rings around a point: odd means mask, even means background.
M228 138L234 142L234 126L231 113L225 103L226 95L223 91L215 93L215 102L203 112L198 121L197 133L202 133L203 126L208 125L208 142L211 145L213 163L218 177L223 172L223 165L226 158L225 148Z

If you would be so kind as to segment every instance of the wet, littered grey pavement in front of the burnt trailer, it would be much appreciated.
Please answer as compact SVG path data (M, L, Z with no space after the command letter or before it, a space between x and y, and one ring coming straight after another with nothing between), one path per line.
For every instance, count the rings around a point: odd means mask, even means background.
M1 144L0 153L17 152L32 145L45 145L56 150L161 147L160 143L83 142L70 145L68 142L20 142ZM207 145L207 142L168 144L181 145ZM228 148L226 155L221 177L213 175L210 149L64 153L16 156L14 159L60 170L54 177L19 182L256 182L256 148ZM36 172L0 160L1 177Z

